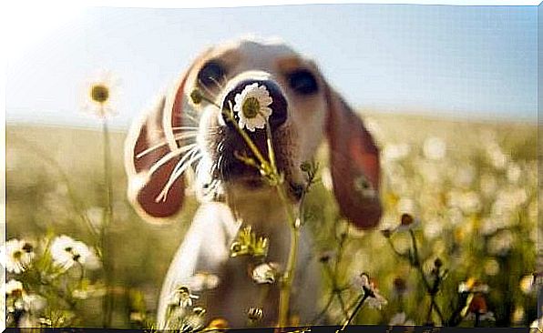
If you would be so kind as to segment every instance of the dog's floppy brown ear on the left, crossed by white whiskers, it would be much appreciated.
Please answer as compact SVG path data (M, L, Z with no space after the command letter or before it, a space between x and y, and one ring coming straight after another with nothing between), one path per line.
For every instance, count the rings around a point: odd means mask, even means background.
M183 204L184 179L171 182L170 176L182 155L173 128L182 126L184 86L182 78L157 106L132 123L125 141L128 198L150 222L175 215Z

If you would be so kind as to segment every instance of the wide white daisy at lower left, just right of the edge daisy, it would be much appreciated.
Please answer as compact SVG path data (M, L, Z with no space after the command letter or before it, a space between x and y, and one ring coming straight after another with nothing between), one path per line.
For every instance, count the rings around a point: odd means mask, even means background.
M83 242L62 235L51 242L51 257L59 267L68 269L76 264L88 268L99 267L97 255Z

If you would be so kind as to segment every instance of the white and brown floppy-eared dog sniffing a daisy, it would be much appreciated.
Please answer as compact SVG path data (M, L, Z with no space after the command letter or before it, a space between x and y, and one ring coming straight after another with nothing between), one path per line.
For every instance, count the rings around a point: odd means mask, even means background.
M133 122L125 144L128 198L150 222L179 212L188 185L182 175L195 166L191 186L200 208L162 285L159 328L169 328L169 299L199 272L219 281L199 294L207 321L222 318L230 328L243 328L249 325L248 312L261 311L259 326L277 325L280 282L262 291L248 270L251 260L231 257L231 244L244 226L268 237L266 261L274 267L284 269L289 257L284 205L276 188L241 161L239 156L251 156L251 150L221 112L255 83L272 101L268 124L289 205L299 204L307 182L301 164L312 160L325 140L343 217L362 229L375 227L381 217L379 149L312 60L277 41L241 39L210 47L156 106ZM267 156L266 131L252 129L244 131ZM302 227L289 314L297 319L291 323L314 324L320 276L312 235Z

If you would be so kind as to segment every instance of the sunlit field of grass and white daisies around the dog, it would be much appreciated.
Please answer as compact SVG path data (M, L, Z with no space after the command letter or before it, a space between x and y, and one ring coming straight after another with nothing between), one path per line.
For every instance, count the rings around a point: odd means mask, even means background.
M537 320L537 126L364 119L382 148L384 217L379 230L361 232L338 215L323 147L305 208L326 282L321 317L466 327ZM106 160L103 139L86 129L6 128L8 325L153 325L197 203L190 197L167 226L142 221L125 195L124 133L108 133Z

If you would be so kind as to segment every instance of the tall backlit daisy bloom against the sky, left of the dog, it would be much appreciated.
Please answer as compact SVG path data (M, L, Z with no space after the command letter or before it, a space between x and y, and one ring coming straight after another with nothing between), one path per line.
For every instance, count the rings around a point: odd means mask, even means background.
M100 118L115 113L115 99L118 96L118 79L110 72L100 72L87 83L87 98L83 109Z

